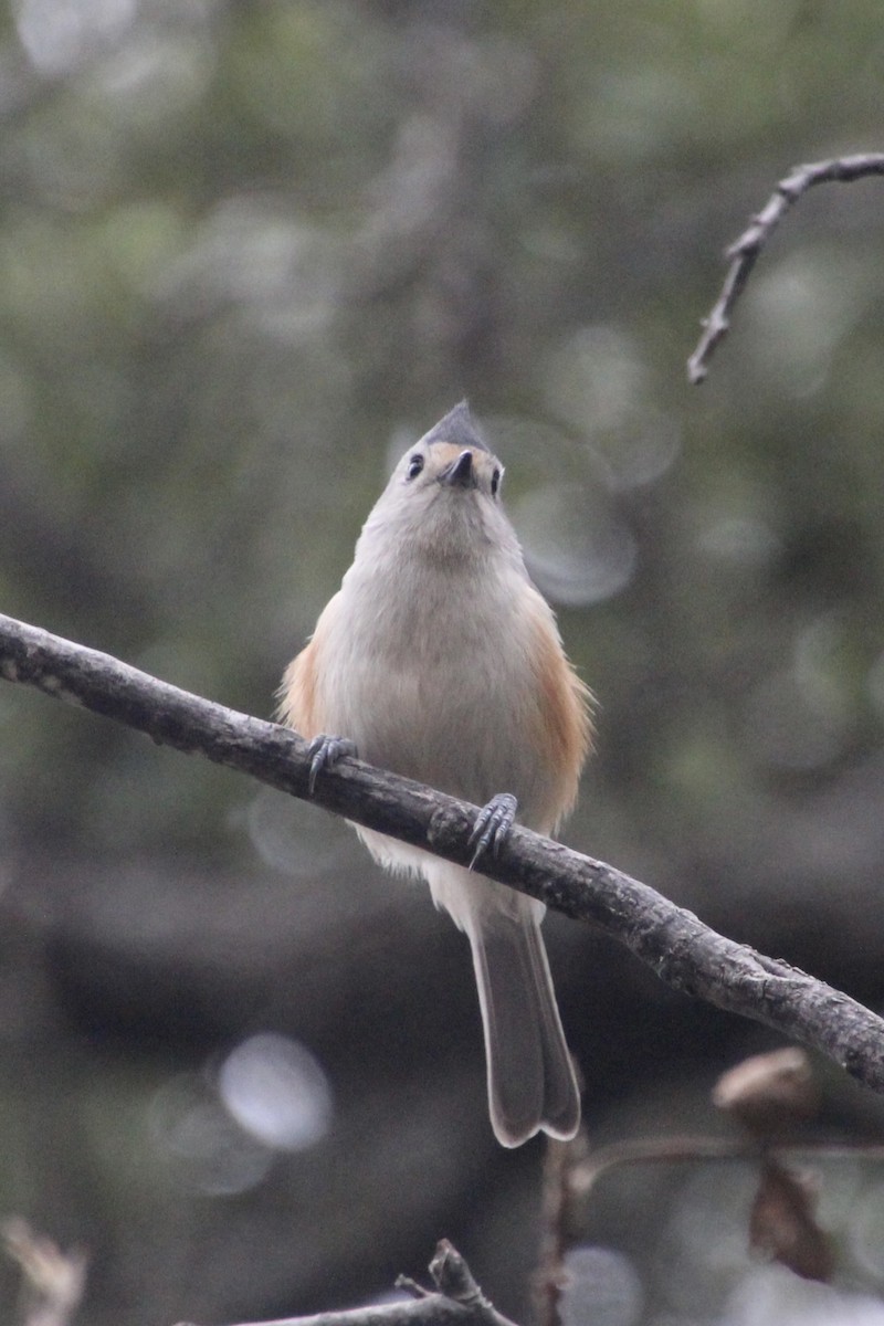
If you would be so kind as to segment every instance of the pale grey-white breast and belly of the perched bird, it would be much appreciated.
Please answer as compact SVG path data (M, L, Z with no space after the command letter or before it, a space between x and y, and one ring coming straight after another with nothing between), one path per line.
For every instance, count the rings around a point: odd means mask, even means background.
M502 558L399 573L358 558L317 630L325 729L371 764L478 805L513 792L530 823L543 770L525 593Z

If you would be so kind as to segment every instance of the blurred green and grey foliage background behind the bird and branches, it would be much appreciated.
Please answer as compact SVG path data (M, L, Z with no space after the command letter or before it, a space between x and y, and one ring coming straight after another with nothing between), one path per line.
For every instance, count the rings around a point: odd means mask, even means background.
M775 180L884 147L883 68L872 0L4 5L3 610L268 717L467 395L599 699L567 841L881 1006L880 182L806 198L684 363ZM543 1144L493 1142L427 891L37 692L0 778L0 1213L89 1250L77 1321L347 1306L443 1235L524 1318ZM546 932L591 1140L724 1128L775 1037ZM822 1071L828 1135L880 1138ZM884 1174L822 1184L840 1298L749 1257L747 1170L606 1180L573 1326L831 1323L884 1285Z

